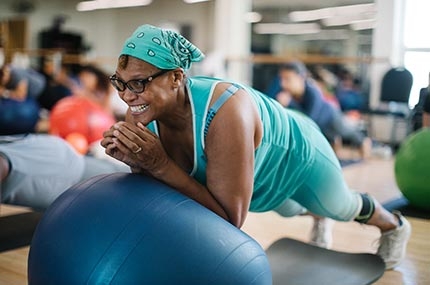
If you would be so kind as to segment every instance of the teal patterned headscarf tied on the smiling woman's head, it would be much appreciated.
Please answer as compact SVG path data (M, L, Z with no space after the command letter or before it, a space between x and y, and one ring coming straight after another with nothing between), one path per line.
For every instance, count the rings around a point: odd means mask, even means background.
M138 27L125 41L121 55L136 57L159 69L181 67L184 70L204 58L203 53L180 34L151 25Z

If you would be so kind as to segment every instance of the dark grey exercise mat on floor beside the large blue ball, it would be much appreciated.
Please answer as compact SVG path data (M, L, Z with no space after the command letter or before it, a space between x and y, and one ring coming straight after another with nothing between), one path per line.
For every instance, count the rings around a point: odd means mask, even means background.
M385 272L385 263L370 253L346 253L283 238L267 249L273 285L372 284Z

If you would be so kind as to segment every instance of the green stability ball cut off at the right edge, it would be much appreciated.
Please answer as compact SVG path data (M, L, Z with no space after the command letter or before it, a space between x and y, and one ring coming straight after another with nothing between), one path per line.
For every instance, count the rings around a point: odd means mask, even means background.
M394 164L396 182L412 206L430 210L430 129L421 129L400 145Z

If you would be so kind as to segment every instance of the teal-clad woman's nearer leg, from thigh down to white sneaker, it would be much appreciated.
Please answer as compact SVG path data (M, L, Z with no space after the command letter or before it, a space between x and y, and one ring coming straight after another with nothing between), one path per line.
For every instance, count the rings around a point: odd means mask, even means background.
M319 144L308 179L291 198L316 215L379 228L377 253L387 269L403 259L410 236L409 222L400 213L388 212L373 197L351 191L328 143Z

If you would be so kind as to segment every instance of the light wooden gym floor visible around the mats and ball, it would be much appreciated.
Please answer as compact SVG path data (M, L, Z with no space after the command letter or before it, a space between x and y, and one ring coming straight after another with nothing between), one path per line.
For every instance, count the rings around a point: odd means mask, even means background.
M373 158L365 163L344 168L345 177L353 189L373 194L379 201L399 197L392 159ZM2 205L1 215L25 209ZM409 218L412 236L404 262L395 270L386 271L375 284L430 284L430 220ZM282 237L307 241L311 229L309 217L285 219L273 212L251 213L243 230L264 248ZM1 230L1 229L0 229ZM375 228L357 223L336 222L333 249L347 252L375 252L379 233ZM27 256L29 249L21 248L0 254L0 285L27 284ZM311 274L311 272L310 272ZM347 285L347 284L346 284Z

